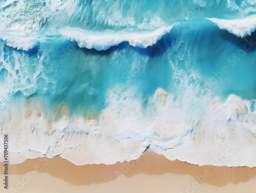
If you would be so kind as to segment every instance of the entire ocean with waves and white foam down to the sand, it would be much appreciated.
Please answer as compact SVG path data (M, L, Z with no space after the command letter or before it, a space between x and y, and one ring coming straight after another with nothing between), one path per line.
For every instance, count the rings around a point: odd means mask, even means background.
M0 1L10 161L256 166L255 29L253 0Z

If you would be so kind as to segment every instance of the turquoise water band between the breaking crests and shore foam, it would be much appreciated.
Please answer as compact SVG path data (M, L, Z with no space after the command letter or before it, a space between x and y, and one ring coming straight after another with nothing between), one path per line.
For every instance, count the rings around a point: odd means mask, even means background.
M251 37L254 41L253 34ZM146 49L124 41L97 51L54 36L22 51L2 41L5 64L0 73L2 84L10 89L10 98L17 91L26 97L44 96L50 109L65 103L71 114L83 116L96 116L105 108L105 94L117 84L123 91L135 87L134 97L140 100L154 95L157 88L177 95L177 90L190 85L209 88L213 96L223 100L230 94L253 99L255 53L254 48L243 50L244 44L245 39L202 19L185 20ZM189 85L184 85L186 77L177 80L175 71L183 71L186 76L194 71L200 77L191 77Z

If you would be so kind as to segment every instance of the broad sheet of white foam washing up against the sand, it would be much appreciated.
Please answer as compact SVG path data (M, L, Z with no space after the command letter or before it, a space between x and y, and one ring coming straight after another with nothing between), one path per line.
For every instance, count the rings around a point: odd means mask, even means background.
M132 90L113 90L109 106L97 121L74 119L67 111L55 119L47 115L43 100L31 99L29 105L18 100L25 108L14 111L10 106L9 113L1 117L1 133L8 133L12 139L9 151L21 156L11 163L23 161L24 155L60 155L76 165L114 164L137 159L150 146L170 160L255 166L256 114L249 108L252 101L236 95L230 95L225 102L204 96L194 100L196 109L192 111L191 105L180 105L180 99L158 89L144 115L141 101L132 96ZM203 116L198 114L202 105L208 106Z

